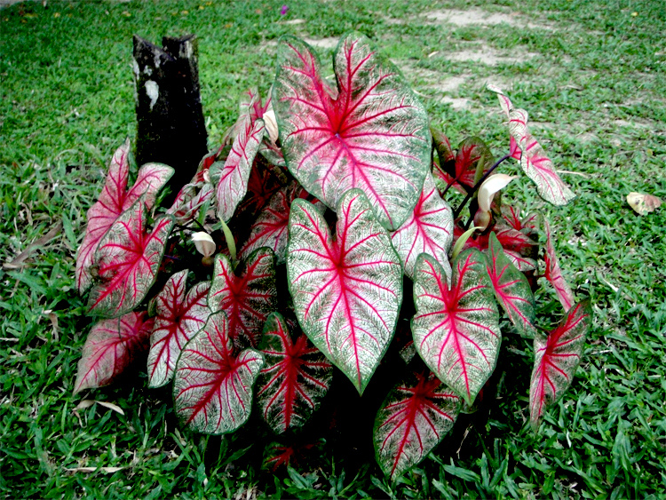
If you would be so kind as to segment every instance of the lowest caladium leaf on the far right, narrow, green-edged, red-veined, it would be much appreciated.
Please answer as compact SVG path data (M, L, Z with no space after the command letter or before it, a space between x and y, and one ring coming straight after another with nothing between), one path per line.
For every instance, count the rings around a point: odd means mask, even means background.
M545 409L571 385L590 324L591 307L583 302L572 307L548 337L535 337L535 366L529 385L529 421L535 429Z

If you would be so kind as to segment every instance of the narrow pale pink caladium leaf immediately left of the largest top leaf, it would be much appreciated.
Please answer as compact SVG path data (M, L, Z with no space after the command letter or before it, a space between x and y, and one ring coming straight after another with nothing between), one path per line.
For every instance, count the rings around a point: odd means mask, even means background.
M216 187L218 217L228 221L236 206L248 191L248 179L254 158L264 138L264 122L252 122L250 114L243 115L231 153L226 158ZM214 166L215 164L213 164ZM213 168L212 166L210 167Z

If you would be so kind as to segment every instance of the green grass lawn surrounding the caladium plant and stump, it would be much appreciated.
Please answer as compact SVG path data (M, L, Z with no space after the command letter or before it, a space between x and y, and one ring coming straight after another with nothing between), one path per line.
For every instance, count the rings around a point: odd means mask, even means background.
M639 217L625 200L631 191L666 200L662 0L289 1L281 16L284 3L0 9L0 495L663 497L666 207ZM574 385L541 433L526 423L532 358L519 338L504 340L488 419L457 425L457 440L393 485L371 456L337 448L262 470L269 440L256 439L258 423L224 438L188 433L169 391L148 390L140 370L83 393L123 414L99 404L76 410L76 362L92 320L75 290L75 251L108 158L136 131L131 36L199 37L214 147L241 93L268 91L280 36L304 37L327 60L352 29L400 67L453 144L478 135L504 147L490 81L528 110L556 167L574 172L562 174L578 194L565 207L540 201L527 181L507 191L550 217L564 274L595 314ZM39 240L59 224L57 236ZM6 265L26 250L22 263ZM554 295L541 304L555 321ZM70 471L79 467L111 469Z

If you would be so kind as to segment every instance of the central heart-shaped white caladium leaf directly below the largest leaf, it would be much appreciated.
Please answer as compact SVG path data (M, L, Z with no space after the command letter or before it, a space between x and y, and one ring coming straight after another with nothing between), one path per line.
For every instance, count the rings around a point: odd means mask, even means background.
M365 194L337 206L337 235L312 203L289 214L287 275L301 328L363 393L391 342L402 301L402 269Z

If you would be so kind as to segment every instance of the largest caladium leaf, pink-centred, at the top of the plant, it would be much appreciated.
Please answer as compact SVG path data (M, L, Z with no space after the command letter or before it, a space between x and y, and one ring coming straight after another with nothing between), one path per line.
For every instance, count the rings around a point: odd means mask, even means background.
M289 171L331 209L361 188L380 223L400 227L430 165L428 119L414 92L358 34L337 45L337 89L303 41L283 38L278 57L273 105Z

